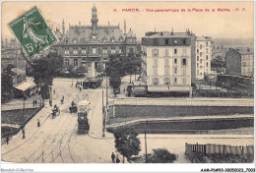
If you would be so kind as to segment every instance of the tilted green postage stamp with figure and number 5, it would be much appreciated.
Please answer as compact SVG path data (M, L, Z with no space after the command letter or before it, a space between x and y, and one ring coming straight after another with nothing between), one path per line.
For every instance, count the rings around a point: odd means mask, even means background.
M9 27L31 58L57 41L36 6L9 23Z

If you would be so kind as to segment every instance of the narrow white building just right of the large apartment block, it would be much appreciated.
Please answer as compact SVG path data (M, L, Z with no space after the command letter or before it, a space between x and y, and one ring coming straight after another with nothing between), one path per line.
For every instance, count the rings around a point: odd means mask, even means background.
M211 73L212 37L196 37L196 79L204 80Z

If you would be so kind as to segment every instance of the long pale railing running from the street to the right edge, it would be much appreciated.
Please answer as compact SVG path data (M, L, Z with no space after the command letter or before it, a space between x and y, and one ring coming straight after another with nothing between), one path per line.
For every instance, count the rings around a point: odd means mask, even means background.
M157 100L114 99L109 105L175 105L175 106L254 106L253 100Z

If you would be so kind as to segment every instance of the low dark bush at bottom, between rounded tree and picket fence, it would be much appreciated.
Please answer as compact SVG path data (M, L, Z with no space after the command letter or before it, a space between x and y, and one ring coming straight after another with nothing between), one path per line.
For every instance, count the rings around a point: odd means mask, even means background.
M148 163L173 163L177 160L177 155L170 153L165 148L153 149L153 153L149 153L147 156Z

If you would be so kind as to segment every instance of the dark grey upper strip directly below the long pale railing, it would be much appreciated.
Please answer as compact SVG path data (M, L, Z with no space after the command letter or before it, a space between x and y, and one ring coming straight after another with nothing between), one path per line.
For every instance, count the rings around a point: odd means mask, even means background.
M115 105L110 118L253 114L253 106Z

